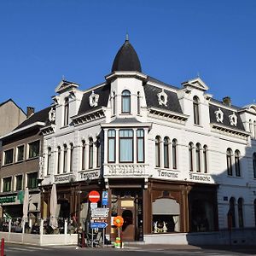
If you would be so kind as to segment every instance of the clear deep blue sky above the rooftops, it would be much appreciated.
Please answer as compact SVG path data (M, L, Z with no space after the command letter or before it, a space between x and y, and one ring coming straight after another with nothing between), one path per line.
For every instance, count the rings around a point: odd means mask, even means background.
M125 33L143 73L180 87L256 100L255 0L1 0L0 102L46 108L65 79L102 83Z

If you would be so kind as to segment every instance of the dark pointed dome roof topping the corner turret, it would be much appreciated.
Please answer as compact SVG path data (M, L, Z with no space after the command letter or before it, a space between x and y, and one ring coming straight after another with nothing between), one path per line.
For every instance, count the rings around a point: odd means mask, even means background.
M113 60L112 72L114 71L142 72L141 62L128 39L125 40L125 44L121 46Z

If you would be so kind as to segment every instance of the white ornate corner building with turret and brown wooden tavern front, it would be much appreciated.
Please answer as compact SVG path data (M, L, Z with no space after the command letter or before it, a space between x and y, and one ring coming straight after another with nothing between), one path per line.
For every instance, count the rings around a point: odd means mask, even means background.
M207 90L201 78L177 88L143 73L128 39L102 84L62 80L41 129L42 216L55 183L59 218L84 229L88 193L108 191L111 240L118 215L124 241L255 227L256 105Z

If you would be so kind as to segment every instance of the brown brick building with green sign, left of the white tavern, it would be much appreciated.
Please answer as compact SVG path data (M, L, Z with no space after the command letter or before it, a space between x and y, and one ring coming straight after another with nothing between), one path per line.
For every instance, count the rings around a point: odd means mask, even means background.
M33 113L28 108L27 119L15 130L1 137L2 166L0 201L4 218L22 218L24 189L29 189L28 217L41 217L41 194L38 189L39 160L43 137L40 128L48 119L49 108Z

